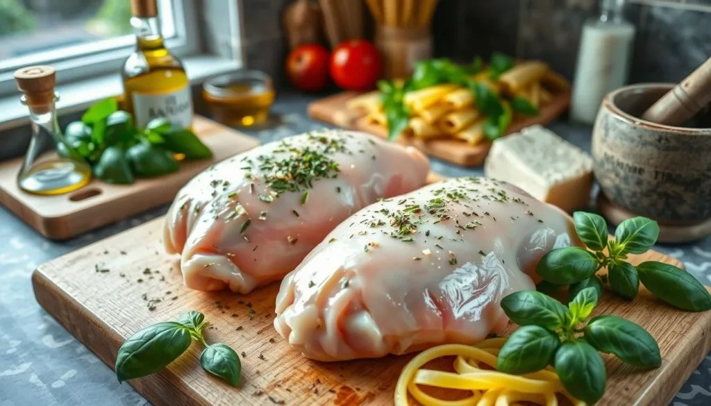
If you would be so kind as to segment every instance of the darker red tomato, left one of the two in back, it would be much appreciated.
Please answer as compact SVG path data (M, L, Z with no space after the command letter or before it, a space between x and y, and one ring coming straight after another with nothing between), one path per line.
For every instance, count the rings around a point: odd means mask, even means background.
M328 51L316 44L302 45L287 58L287 75L294 86L318 92L328 82Z

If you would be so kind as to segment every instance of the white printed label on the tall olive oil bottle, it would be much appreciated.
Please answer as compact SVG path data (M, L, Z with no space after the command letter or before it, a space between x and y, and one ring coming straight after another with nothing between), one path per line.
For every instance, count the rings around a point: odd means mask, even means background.
M193 99L190 86L159 95L133 93L136 126L144 128L156 117L166 117L174 125L187 128L193 122Z

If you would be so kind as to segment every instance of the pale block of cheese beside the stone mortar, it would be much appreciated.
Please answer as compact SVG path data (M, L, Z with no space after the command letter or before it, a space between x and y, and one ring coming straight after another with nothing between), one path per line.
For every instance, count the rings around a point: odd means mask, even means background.
M567 212L587 205L592 188L591 156L540 125L494 142L484 173Z

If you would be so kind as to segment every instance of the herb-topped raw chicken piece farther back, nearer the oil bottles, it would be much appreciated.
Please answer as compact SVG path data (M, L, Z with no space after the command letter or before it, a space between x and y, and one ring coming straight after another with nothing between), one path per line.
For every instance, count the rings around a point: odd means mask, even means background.
M360 132L302 134L216 164L178 192L168 252L187 287L247 293L282 279L349 215L424 185L419 151Z

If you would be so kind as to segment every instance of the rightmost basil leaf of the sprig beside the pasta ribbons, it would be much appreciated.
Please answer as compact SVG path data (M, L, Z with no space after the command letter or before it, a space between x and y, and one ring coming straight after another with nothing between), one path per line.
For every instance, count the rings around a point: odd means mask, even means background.
M641 326L621 317L593 317L585 326L584 337L597 351L613 353L629 365L639 368L662 365L654 337Z

